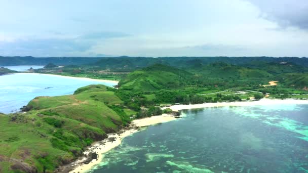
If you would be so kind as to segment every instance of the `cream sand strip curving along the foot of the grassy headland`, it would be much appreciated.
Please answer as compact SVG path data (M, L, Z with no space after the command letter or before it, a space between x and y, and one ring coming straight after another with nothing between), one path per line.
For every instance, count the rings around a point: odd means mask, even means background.
M168 114L163 114L163 115L159 115L159 116L152 116L152 117L148 117L148 118L142 118L142 119L136 119L133 120L132 123L136 126L142 127L142 126L147 126L147 125L153 125L153 124L157 124L157 123L162 123L162 122L168 122L168 121L172 121L175 120L177 118L168 115ZM87 172L89 171L91 168L93 168L95 165L99 164L103 158L103 154L108 152L109 150L111 150L112 148L115 148L117 146L119 146L122 142L122 139L130 136L133 133L138 132L138 130L136 129L130 129L128 131L125 131L124 133L118 135L118 134L110 134L108 135L108 138L110 137L114 137L115 141L113 142L105 142L105 143L100 143L97 142L95 143L93 146L91 146L91 148L89 149L89 151L91 150L92 152L96 152L98 153L98 158L97 160L92 160L89 164L81 164L82 161L84 161L86 158L82 158L78 161L75 162L74 165L78 165L77 167L75 167L73 170L71 170L70 172ZM107 140L104 140L107 141ZM103 141L103 142L104 142ZM89 154L89 152L84 152L85 154Z

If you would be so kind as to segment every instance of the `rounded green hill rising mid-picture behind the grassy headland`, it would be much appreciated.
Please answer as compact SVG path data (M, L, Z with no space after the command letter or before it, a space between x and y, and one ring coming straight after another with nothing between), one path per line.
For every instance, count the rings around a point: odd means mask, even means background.
M128 74L119 82L120 89L153 92L161 89L179 89L192 74L162 64L155 64Z

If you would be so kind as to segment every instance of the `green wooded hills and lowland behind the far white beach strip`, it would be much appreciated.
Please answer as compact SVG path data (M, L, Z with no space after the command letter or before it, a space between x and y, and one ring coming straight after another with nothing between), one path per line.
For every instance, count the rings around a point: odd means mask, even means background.
M155 64L127 75L119 82L119 90L123 95L129 93L138 106L242 101L252 97L258 100L266 93L296 93L306 98L307 68L291 63L256 64L253 68L219 62L188 71ZM273 80L279 80L279 85L262 86Z

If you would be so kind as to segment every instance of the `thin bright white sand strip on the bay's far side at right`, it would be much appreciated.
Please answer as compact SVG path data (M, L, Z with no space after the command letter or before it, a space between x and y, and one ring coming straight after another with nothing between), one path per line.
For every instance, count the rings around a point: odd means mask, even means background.
M282 104L308 104L308 100L261 99L259 101L203 103L196 105L172 105L170 107L164 107L163 109L170 108L173 111L178 111L183 109L197 109L197 108L210 108L210 107L222 107L222 106L256 106L256 105L282 105Z

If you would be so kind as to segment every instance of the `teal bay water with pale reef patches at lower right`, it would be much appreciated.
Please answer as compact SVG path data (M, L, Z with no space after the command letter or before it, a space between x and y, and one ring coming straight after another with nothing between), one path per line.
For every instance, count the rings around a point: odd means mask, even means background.
M92 172L308 172L308 105L183 111L104 154Z

